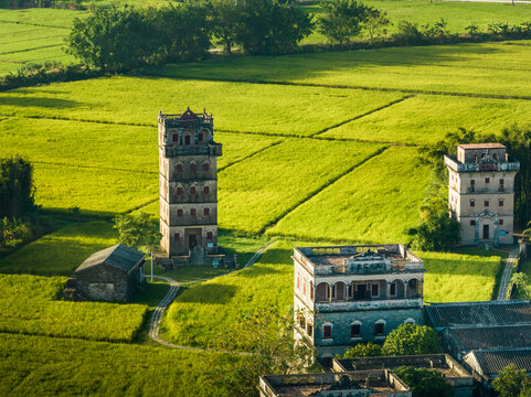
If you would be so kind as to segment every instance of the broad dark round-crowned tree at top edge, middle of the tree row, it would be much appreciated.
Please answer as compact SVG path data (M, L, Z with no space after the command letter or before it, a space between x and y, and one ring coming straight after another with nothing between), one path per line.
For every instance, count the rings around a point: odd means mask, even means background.
M236 43L245 53L284 54L295 50L311 33L311 14L277 0L238 0Z

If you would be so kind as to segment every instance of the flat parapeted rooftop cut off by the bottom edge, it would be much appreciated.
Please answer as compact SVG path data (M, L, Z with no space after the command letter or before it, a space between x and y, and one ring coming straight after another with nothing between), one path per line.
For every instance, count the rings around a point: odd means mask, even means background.
M387 369L261 376L259 393L261 397L411 396L410 387Z

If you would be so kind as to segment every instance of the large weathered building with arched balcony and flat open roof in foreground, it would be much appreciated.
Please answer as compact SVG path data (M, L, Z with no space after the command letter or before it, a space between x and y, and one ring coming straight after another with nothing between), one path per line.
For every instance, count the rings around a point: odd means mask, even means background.
M295 336L326 361L423 323L424 262L402 244L294 248Z

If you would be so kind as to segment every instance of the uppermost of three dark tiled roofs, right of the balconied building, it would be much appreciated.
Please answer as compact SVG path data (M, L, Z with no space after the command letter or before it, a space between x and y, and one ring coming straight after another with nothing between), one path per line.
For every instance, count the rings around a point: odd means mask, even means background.
M531 322L531 303L524 301L435 303L425 309L435 329Z

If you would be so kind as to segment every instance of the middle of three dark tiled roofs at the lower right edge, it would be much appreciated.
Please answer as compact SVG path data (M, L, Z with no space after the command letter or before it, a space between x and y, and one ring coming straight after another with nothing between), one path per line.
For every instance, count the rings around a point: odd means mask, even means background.
M531 323L450 328L448 335L454 340L459 352L475 348L531 346Z

